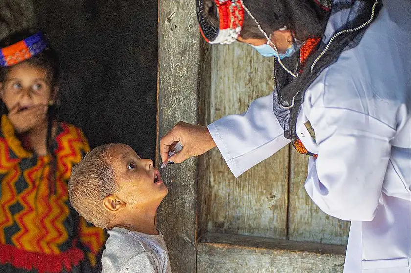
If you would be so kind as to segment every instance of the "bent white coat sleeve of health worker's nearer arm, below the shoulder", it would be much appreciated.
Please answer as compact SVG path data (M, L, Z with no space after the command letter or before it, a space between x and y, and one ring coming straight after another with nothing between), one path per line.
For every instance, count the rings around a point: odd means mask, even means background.
M313 107L310 122L318 145L305 189L325 213L371 221L380 202L395 129L367 114Z

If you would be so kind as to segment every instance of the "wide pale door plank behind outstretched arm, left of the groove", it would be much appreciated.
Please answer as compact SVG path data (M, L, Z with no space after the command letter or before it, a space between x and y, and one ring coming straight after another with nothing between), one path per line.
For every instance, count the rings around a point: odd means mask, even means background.
M247 110L273 88L272 58L240 43L213 45L209 122ZM217 149L208 155L206 231L285 238L288 147L235 179ZM207 218L204 217L207 216Z

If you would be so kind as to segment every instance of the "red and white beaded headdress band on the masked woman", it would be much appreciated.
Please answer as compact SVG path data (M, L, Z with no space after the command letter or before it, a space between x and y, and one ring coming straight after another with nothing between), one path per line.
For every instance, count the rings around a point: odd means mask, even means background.
M240 0L214 0L219 25L214 26L204 12L204 0L196 0L197 20L201 35L210 44L231 44L240 35L244 22L244 6Z

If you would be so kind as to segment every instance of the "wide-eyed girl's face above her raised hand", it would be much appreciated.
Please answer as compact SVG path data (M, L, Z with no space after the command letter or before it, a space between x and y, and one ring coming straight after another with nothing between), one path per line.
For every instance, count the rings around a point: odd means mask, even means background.
M0 83L0 96L9 110L17 104L19 111L47 104L52 93L46 69L27 62L12 66Z

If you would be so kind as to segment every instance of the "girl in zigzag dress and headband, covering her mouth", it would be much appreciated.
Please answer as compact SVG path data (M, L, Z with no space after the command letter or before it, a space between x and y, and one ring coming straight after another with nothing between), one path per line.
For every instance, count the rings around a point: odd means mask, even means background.
M67 182L90 148L56 116L56 52L41 32L0 42L0 272L97 271L105 235L70 206Z

